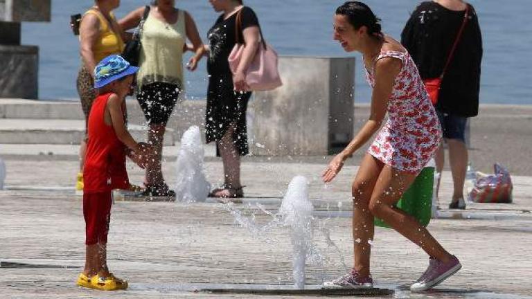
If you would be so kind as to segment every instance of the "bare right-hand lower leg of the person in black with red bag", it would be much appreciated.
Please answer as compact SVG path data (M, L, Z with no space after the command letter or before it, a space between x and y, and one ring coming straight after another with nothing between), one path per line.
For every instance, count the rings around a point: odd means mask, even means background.
M449 145L449 162L454 189L452 201L454 202L463 198L463 184L468 170L468 148L465 143L457 139L447 139L447 145Z

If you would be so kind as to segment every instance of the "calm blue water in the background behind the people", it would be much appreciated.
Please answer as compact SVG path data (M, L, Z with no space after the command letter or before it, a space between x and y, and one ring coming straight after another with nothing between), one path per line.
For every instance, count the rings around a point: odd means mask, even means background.
M78 39L71 34L70 15L84 12L89 0L53 0L51 23L24 23L23 44L40 46L39 98L74 99L80 64ZM149 1L122 0L116 10L123 17ZM384 30L399 39L416 0L367 0L382 18ZM531 104L532 15L531 0L471 0L479 14L484 38L481 102ZM343 1L337 0L245 0L258 13L265 39L281 55L353 55L344 53L332 40L332 15ZM178 0L190 12L206 42L206 32L217 14L207 0ZM360 58L358 55L357 60ZM204 98L205 63L195 73L186 73L187 97ZM371 90L362 69L357 68L355 102L369 102Z

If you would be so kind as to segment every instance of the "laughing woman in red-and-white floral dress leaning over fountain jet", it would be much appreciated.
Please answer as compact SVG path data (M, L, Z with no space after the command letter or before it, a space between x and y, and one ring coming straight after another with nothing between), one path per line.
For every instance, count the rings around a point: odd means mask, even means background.
M429 268L411 285L412 291L425 291L459 271L461 264L414 217L394 204L434 155L441 128L416 65L399 42L381 32L379 21L360 1L344 3L335 14L334 39L345 51L362 53L373 94L369 120L332 159L322 174L323 181L332 181L346 158L379 129L380 132L364 156L352 186L353 269L326 282L325 287L373 287L369 266L373 219L378 217L429 255ZM388 120L384 122L386 114Z

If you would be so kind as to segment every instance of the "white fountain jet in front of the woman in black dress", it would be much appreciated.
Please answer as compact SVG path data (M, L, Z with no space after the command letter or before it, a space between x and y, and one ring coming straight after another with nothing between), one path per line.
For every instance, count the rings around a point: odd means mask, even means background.
M181 138L181 148L177 156L176 198L185 202L205 201L211 184L203 171L204 148L199 127L192 126Z

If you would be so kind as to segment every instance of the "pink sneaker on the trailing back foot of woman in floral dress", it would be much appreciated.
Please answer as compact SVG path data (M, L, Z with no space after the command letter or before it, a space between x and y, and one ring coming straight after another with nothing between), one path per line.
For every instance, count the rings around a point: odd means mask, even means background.
M410 286L410 291L427 291L443 282L462 268L460 261L454 255L447 263L440 262L433 257L429 259L429 267L421 277Z

